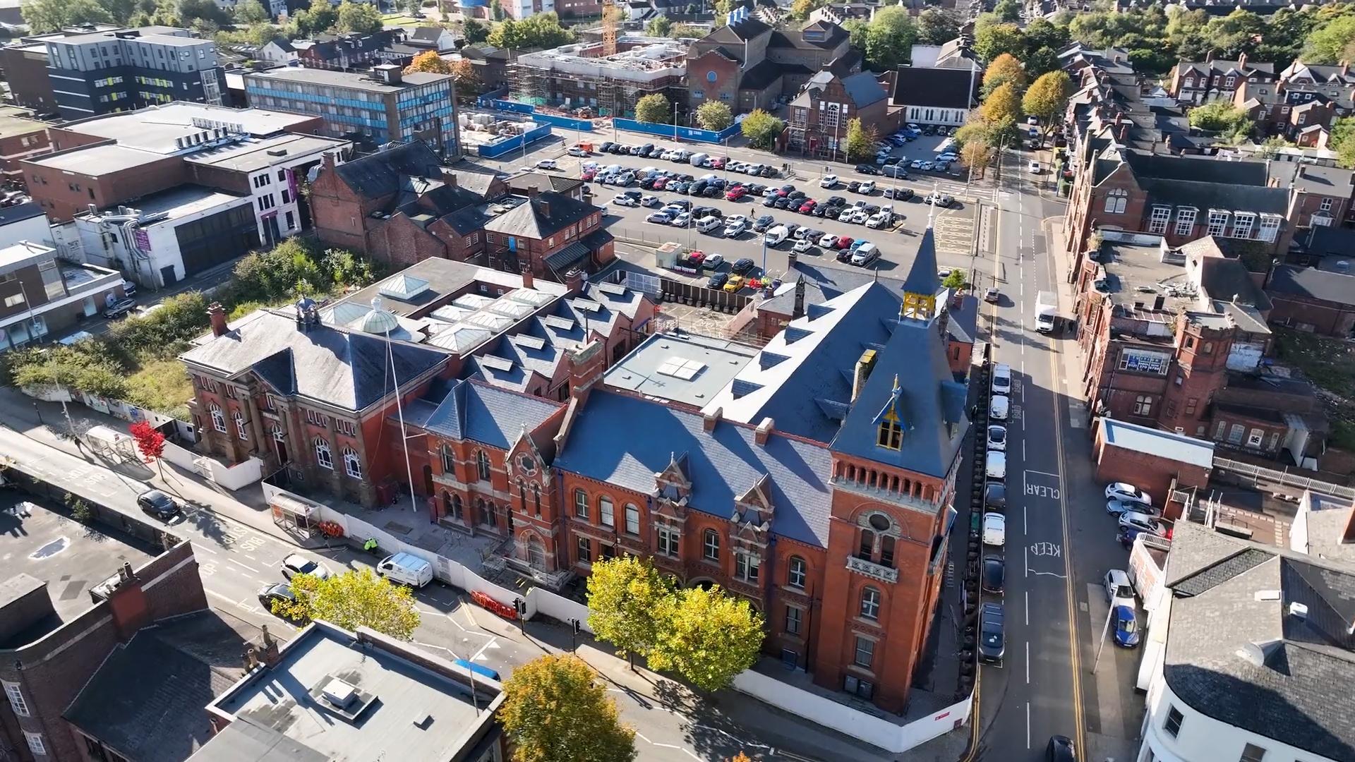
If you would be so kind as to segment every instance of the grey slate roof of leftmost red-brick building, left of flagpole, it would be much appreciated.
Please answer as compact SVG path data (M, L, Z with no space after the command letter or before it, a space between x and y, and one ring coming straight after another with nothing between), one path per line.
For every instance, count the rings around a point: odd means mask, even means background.
M253 370L279 393L362 411L394 392L388 346L401 382L449 358L436 350L324 324L304 331L291 315L267 309L237 320L233 329L179 358L228 376Z

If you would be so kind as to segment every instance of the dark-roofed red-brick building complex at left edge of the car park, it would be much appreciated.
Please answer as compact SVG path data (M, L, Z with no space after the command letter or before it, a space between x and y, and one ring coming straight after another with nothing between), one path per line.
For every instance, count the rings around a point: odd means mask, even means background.
M577 183L547 178L453 171L417 141L343 164L327 160L310 186L316 230L328 244L397 266L480 260L553 279L606 266L615 247L602 209L581 199Z

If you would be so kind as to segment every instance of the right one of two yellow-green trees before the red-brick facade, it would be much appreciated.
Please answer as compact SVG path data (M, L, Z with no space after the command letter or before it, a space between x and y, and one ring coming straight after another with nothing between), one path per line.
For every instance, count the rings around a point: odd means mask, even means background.
M720 690L757 660L766 635L762 614L720 586L678 591L664 616L649 656L656 670L675 670L702 690Z

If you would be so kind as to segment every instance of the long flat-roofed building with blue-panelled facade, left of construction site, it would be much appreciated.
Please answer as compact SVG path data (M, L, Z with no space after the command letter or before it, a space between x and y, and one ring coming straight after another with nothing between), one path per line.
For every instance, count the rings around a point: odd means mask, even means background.
M443 159L461 155L457 92L450 75L381 64L370 72L286 66L245 75L249 104L324 118L324 133L350 140L425 141Z

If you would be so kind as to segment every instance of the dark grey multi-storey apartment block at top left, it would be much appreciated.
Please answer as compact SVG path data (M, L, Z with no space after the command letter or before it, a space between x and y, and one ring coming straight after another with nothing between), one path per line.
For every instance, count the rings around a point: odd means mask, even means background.
M49 39L47 76L66 119L171 100L221 104L217 43L188 30L145 27Z

